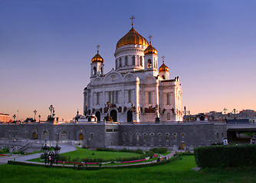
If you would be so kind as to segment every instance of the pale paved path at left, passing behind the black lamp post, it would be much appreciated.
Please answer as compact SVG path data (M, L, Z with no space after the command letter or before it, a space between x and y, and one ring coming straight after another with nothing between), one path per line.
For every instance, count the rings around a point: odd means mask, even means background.
M71 152L71 151L74 151L76 150L76 148L70 144L59 144L59 146L61 146L61 153L64 153L64 152ZM28 159L35 159L35 158L39 158L40 155L41 155L42 152L40 153L36 153L36 154L31 154L31 155L26 155L26 156L19 156L19 155L12 155L12 156L3 156L3 157L0 157L0 164L5 164L7 163L9 160L14 160L15 161L18 161L18 162L24 162Z

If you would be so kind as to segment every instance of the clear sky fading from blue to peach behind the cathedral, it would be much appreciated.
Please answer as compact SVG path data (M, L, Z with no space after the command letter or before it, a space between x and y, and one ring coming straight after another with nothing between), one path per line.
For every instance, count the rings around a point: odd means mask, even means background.
M255 8L254 0L0 0L0 113L25 120L37 110L45 120L51 104L60 119L82 113L97 44L107 73L132 15L138 33L153 36L159 65L164 55L170 79L179 75L191 114L256 110Z

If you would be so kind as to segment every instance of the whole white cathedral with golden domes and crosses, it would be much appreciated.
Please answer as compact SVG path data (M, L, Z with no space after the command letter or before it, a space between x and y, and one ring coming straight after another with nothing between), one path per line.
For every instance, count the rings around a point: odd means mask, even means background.
M86 121L103 121L108 115L120 123L182 121L179 76L169 79L164 56L162 65L158 65L151 38L148 42L132 24L117 42L115 69L106 74L97 46L97 54L90 63L90 83L84 88Z

